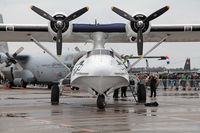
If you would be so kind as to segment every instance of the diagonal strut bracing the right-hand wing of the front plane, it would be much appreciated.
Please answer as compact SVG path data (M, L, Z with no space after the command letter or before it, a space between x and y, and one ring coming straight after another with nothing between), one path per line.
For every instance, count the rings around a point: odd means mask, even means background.
M140 62L143 58L145 58L149 53L151 53L155 48L157 48L161 43L165 42L166 39L169 37L170 35L167 35L166 37L164 37L160 42L158 42L155 46L153 46L148 52L146 52L144 54L144 56L140 57L137 61L135 61L133 64L131 64L129 67L128 67L128 71L130 71L130 69L135 66L138 62Z

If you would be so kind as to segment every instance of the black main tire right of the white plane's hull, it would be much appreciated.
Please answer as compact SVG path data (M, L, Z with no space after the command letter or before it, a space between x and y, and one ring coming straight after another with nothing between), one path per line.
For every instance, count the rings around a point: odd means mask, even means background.
M146 102L146 87L144 84L138 84L137 88L137 97L139 103Z

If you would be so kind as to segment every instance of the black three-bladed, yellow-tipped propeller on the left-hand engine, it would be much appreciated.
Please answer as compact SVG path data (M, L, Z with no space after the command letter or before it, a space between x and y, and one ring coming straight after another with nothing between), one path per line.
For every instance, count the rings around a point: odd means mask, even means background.
M62 54L62 32L63 32L63 29L65 28L66 23L69 24L70 21L80 17L81 15L83 15L85 12L87 12L89 10L88 7L84 7L82 9L72 13L68 17L65 17L63 20L62 19L56 20L54 17L49 15L47 12L43 11L42 9L40 9L36 6L31 5L30 8L34 12L36 12L37 14L42 16L43 18L49 20L50 22L55 23L55 26L57 28L56 48L57 48L57 56L58 57L60 57Z

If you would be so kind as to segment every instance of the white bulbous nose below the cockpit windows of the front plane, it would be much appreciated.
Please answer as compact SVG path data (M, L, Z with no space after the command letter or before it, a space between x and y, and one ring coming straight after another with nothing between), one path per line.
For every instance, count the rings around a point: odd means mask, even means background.
M128 84L128 74L116 59L111 56L88 58L71 79L71 84L83 88L93 88L103 94L109 88L118 88Z

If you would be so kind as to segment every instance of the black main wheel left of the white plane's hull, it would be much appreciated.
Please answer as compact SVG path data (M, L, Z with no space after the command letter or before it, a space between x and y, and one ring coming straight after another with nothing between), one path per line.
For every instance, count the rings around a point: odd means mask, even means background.
M51 104L52 105L59 104L59 87L57 84L53 85L51 88Z

